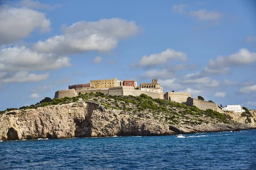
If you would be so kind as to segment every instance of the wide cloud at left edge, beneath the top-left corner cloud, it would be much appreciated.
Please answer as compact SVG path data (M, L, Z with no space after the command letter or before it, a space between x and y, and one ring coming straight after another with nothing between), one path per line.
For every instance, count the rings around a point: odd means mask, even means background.
M25 47L3 48L0 51L0 71L53 70L70 66L70 58L38 53Z

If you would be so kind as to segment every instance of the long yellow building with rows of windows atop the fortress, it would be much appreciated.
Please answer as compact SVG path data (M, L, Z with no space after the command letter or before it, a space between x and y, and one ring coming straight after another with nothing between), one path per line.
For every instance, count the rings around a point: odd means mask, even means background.
M90 80L90 88L96 89L120 86L117 81L116 77L113 79Z

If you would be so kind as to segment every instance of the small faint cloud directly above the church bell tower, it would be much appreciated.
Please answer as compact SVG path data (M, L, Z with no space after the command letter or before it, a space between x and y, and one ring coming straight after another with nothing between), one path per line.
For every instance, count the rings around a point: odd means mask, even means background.
M152 78L157 77L159 79L168 79L174 76L174 73L168 71L167 69L162 70L148 70L145 73L141 74L142 78Z

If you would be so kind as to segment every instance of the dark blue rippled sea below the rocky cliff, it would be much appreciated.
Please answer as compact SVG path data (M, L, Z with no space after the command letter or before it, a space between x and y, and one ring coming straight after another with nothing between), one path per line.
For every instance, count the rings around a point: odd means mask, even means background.
M2 170L256 170L256 130L0 142Z

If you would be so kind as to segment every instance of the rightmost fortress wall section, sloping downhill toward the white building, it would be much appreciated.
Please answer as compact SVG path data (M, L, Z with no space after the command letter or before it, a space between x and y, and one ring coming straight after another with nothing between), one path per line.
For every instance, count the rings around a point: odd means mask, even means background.
M218 105L216 103L207 102L203 100L187 98L187 105L188 106L196 106L197 108L206 111L206 109L212 109L213 111L218 111Z

